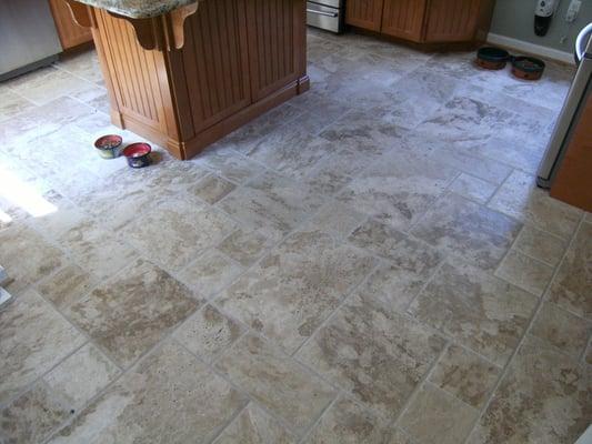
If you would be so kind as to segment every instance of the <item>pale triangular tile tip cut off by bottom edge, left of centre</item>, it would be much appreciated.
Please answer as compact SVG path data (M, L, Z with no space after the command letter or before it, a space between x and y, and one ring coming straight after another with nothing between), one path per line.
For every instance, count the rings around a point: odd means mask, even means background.
M253 403L222 432L214 444L295 444L295 437Z

